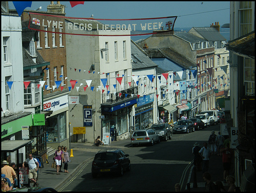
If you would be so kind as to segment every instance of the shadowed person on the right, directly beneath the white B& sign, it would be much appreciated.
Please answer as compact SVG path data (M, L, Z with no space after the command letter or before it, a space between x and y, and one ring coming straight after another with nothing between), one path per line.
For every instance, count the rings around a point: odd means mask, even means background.
M232 158L232 149L229 148L229 145L227 147L222 148L220 150L222 153L222 163L223 163L223 181L226 183L226 177L229 175L229 170L231 168L231 158Z

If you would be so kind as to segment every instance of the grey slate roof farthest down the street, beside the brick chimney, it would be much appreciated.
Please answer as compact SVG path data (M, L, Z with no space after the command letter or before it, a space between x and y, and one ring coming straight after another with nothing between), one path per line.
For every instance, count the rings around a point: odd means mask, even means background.
M226 38L223 37L217 29L212 27L204 27L204 28L191 28L190 30L195 29L200 35L202 35L208 41L226 41ZM189 30L189 31L190 31ZM189 33L188 31L188 33Z

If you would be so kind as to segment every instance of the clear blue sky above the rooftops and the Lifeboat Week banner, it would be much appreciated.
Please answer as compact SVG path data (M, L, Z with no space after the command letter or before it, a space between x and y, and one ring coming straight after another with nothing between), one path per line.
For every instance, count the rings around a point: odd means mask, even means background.
M27 10L47 11L51 2L32 2ZM57 4L57 2L54 2ZM84 2L83 5L71 7L70 2L60 2L66 5L67 17L101 19L133 19L178 16L175 28L209 27L211 23L219 22L220 26L229 23L230 2ZM15 9L12 2L9 8ZM219 10L219 11L216 11Z

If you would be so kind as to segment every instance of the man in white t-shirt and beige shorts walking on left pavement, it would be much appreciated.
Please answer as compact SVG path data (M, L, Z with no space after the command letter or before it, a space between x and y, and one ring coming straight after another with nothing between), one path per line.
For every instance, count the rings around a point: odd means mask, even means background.
M39 183L36 181L37 179L37 171L39 168L39 163L37 159L33 158L32 154L29 154L29 158L23 162L22 167L25 167L25 163L29 165L29 180L34 183L33 187L38 187Z

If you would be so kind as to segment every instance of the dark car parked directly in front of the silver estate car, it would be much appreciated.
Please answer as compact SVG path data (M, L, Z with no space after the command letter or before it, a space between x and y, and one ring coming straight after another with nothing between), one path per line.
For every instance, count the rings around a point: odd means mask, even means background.
M167 141L167 138L172 139L172 130L168 123L156 123L151 128L155 130L161 140Z

